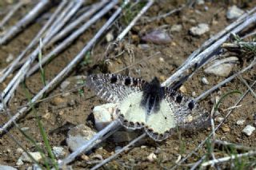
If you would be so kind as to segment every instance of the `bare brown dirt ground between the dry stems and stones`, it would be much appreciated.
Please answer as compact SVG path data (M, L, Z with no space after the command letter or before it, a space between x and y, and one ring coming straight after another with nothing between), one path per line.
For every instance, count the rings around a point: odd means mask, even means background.
M158 16L158 14L164 14L170 10L178 8L182 2L176 1L159 1L155 2L153 6L150 7L150 10L146 12L147 17ZM246 5L242 2L237 5L242 8L242 10L249 10L255 6L255 2L246 2ZM3 6L10 6L7 2L3 4L0 3L0 8ZM156 52L159 54L146 59L140 62L138 65L134 65L130 69L122 71L122 74L129 74L132 77L142 77L146 81L150 81L153 77L159 77L160 81L165 81L166 78L170 77L174 73L178 66L186 60L186 57L190 55L195 49L198 49L203 42L209 39L212 35L223 30L228 26L232 21L226 19L226 10L228 6L233 5L230 3L223 2L206 2L204 5L195 5L191 8L186 7L182 11L172 14L169 17L163 18L159 21L154 22L143 22L141 20L138 25L134 26L130 33L126 36L125 41L114 47L114 50L106 57L106 49L109 45L106 42L106 38L102 38L97 45L94 46L94 49L91 51L92 60L89 65L79 65L74 73L72 73L66 79L72 82L65 90L74 89L77 86L75 81L75 76L87 76L90 73L114 73L127 65L132 65L134 62L140 61L145 57L150 57ZM207 6L207 9L206 7ZM18 11L18 14L14 15L13 20L10 23L13 24L16 22L22 14L25 14L31 6L26 6L22 10ZM107 16L106 16L107 17ZM55 57L53 61L50 61L48 65L44 67L46 71L46 81L50 81L54 76L58 74L71 60L75 57L76 54L86 45L86 42L92 38L95 34L95 30L98 30L102 24L106 21L106 18L102 19L101 22L97 22L92 29L86 31L85 34L82 34L70 48L62 52L58 57ZM29 26L22 34L19 34L18 37L14 38L7 45L0 46L0 69L3 69L8 65L6 63L6 57L9 54L18 56L18 53L21 53L23 49L26 48L26 45L30 42L32 38L36 35L39 28L45 23L43 19L38 19L36 23ZM194 37L189 34L189 29L192 26L198 25L198 23L207 23L210 25L210 32L203 34L199 37ZM175 24L181 24L182 30L179 32L170 33L170 27ZM166 45L155 45L153 43L143 42L141 37L143 34L146 34L150 30L156 30L159 27L164 26L164 29L171 34L172 41ZM111 29L114 36L118 35L117 30L123 30L124 26L122 24L116 24ZM142 44L147 44L148 47L142 48ZM50 47L54 48L54 46ZM50 49L48 49L50 50ZM121 53L124 50L124 53L119 57L114 57L118 53ZM46 51L43 51L46 53ZM134 54L134 58L133 55ZM112 59L109 59L112 57ZM113 59L114 57L114 59ZM107 64L104 61L108 61ZM243 68L244 58L240 57L240 63L235 65L232 73L237 72ZM250 61L249 61L250 62ZM255 68L250 71L243 73L242 77L251 84L255 81L256 71ZM202 84L202 77L206 77L209 81L208 85ZM8 77L8 80L0 85L0 89L4 89L8 84L8 81L12 77ZM203 69L199 69L197 73L194 74L186 83L184 87L186 96L192 96L194 92L196 96L203 93L207 89L210 89L212 86L217 85L218 82L223 81L225 77L216 77L214 75L208 75L203 72ZM29 77L25 81L27 89L29 89L31 95L36 94L40 89L42 89L42 81L40 73L35 73L33 76ZM223 94L228 93L232 90L239 90L240 92L246 92L246 85L242 83L238 78L235 78L230 83L224 85L222 88L216 90L214 93L211 93L210 96L206 97L203 101L200 102L200 105L207 109L209 112L213 107L213 100L215 97L221 97ZM54 89L47 97L53 96L54 94L62 93L62 89L59 87ZM219 117L224 117L228 112L226 109L234 105L234 103L240 97L239 94L232 94L225 98L225 100L220 105L218 111L220 114ZM54 97L46 101L42 101L36 108L36 111L40 117L42 117L42 124L46 129L46 132L49 134L49 140L51 146L62 146L65 148L66 153L69 153L70 150L66 146L66 131L52 132L54 129L62 128L63 125L70 123L72 125L84 124L88 125L91 128L94 128L93 122L90 119L90 114L92 109L96 105L102 105L106 101L102 101L99 97L94 96L94 93L90 89L84 88L84 93L71 92L68 95L62 95ZM10 109L15 109L18 106L26 104L26 95L25 90L20 85L14 97L10 101ZM256 111L256 100L251 93L248 93L246 97L240 103L238 109L234 109L234 112L230 115L228 120L222 128L219 128L216 134L216 138L219 140L229 141L231 143L242 144L244 146L256 147L256 132L251 136L245 136L242 134L242 129L246 125L254 125L255 120L254 115ZM88 118L89 117L89 118ZM2 114L0 117L1 125L8 120L6 114ZM236 121L245 120L244 125L236 125ZM33 113L26 114L25 117L22 117L18 121L20 127L28 127L28 132L34 139L39 143L43 144L42 137L39 133L38 124L36 122L35 116ZM134 148L131 148L129 152L122 153L114 161L106 164L104 167L106 169L164 169L171 168L174 166L175 161L178 160L179 156L186 156L187 153L191 152L194 148L206 139L211 132L210 128L198 132L184 132L182 134L175 134L170 136L167 140L162 142L155 142L154 140L147 139L143 144L146 147L137 145ZM22 145L27 148L30 152L35 152L36 148L23 136L17 128L10 128L10 134L15 136ZM106 140L106 144L102 148L94 149L89 156L89 160L95 160L95 155L101 155L103 158L114 153L114 148L116 146L124 146L125 143L115 144L112 140ZM10 138L8 135L2 135L0 138L0 164L8 164L10 166L16 166L16 162L20 153L17 152L18 145ZM157 160L149 161L147 156L150 153L154 152L157 156ZM182 166L178 167L179 169L189 168L189 164L196 162L207 152L206 147L202 147L196 154L191 156ZM218 148L214 149L215 156L227 156L228 152L220 150ZM26 169L31 164L24 164L19 169ZM72 164L74 169L82 168L91 168L93 164L86 164L86 160L78 158ZM230 168L230 164L223 164L222 168Z

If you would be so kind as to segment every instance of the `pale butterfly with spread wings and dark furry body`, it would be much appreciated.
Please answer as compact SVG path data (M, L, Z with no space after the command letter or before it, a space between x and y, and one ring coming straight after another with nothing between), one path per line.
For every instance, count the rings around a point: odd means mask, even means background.
M92 74L86 84L98 97L117 103L118 121L130 129L144 128L152 139L165 140L177 130L209 125L208 114L190 97L150 82L118 74Z

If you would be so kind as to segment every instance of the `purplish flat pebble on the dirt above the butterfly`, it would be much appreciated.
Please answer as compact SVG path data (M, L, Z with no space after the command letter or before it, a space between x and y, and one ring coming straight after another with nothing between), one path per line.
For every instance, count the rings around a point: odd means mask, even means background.
M171 42L170 35L162 30L153 30L142 37L145 42L152 42L154 44L163 45Z

